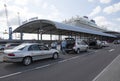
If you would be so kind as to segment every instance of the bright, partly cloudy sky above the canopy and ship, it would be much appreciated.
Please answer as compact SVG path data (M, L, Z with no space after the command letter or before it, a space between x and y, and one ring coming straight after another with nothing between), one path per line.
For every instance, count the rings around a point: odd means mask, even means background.
M32 17L62 22L76 16L88 16L98 26L120 32L119 0L0 0L0 36L5 36L8 26L17 28L19 18L21 23Z

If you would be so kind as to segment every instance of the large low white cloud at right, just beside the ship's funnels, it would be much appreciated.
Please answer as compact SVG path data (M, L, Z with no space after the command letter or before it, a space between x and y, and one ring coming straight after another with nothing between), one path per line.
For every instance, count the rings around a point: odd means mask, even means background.
M119 31L120 26L118 27L117 24L115 24L111 21L108 21L104 16L97 16L97 17L94 18L94 20L96 21L96 24L103 29L120 32Z

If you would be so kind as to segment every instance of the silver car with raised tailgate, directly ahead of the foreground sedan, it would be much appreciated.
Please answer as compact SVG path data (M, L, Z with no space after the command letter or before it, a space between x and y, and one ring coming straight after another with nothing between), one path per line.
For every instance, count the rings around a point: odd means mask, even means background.
M65 51L69 53L70 51L74 51L79 54L80 51L87 51L88 45L81 39L74 38L66 38L66 49Z

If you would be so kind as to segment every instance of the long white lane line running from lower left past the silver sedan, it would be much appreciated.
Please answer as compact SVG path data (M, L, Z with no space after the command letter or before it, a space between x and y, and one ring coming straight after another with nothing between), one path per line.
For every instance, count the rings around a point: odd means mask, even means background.
M69 58L69 59L65 59L65 60L62 60L62 61L58 61L58 62L56 62L56 63L46 64L46 65L43 65L43 66L40 66L40 67L35 67L35 68L28 69L28 70L24 70L24 71L21 71L21 72L15 72L15 73L11 73L11 74L8 74L8 75L0 76L0 79L7 78L7 77L11 77L11 76L15 76L15 75L22 74L22 73L25 73L25 72L28 72L28 71L33 71L33 70L42 69L42 68L51 66L51 65L53 65L53 64L64 63L64 62L66 62L66 61L70 61L70 60L73 60L73 59L76 59L76 58L79 58L79 57L80 57L80 56L75 56L75 57L72 57L72 58Z

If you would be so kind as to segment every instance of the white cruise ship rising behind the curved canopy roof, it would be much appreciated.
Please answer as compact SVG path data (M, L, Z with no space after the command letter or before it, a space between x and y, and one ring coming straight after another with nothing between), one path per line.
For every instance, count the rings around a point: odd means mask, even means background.
M87 16L83 16L83 17L72 17L68 20L64 20L63 23L65 24L69 24L69 25L74 25L74 26L80 26L83 28L87 28L87 29L91 29L91 30L96 30L96 31L101 31L101 32L105 32L107 30L100 28L95 20L93 19L89 19Z

